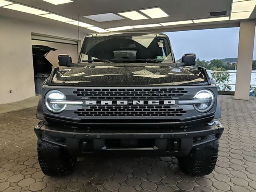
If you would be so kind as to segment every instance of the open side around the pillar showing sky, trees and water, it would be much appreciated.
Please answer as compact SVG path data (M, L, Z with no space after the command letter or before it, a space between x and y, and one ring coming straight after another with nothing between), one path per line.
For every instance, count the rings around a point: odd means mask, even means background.
M238 27L166 32L165 34L172 42L177 62L180 61L183 54L195 53L197 55L195 67L205 67L210 76L219 83L219 90L235 90ZM256 38L254 40L251 84L251 92L256 92Z

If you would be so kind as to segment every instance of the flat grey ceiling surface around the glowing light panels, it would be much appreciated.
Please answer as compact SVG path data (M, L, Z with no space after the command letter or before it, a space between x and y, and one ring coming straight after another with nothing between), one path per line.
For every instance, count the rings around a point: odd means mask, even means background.
M238 1L238 0L234 0ZM244 0L241 0L244 1ZM209 12L227 11L227 16L230 16L232 7L232 0L74 0L74 2L67 4L54 5L43 0L10 0L18 4L38 8L98 26L103 29L115 28L120 26L133 26L142 24L154 24L173 22L181 20L195 20L202 18L209 18ZM131 20L128 18L122 20L96 22L83 16L125 12L129 10L137 10L160 7L169 16L164 18L148 18L144 20ZM6 16L11 18L18 18L35 23L47 24L50 26L58 26L64 29L76 30L78 27L75 25L43 18L37 15L19 12L15 10L9 10L0 7L0 16ZM252 11L249 19L256 18L256 9ZM226 20L218 22L203 22L203 23L191 23L172 26L158 26L152 28L134 28L124 31L152 31L152 32L168 32L177 30L193 30L193 29L205 29L205 28L223 28L239 26L240 20ZM93 33L94 31L80 27L80 31L84 33Z

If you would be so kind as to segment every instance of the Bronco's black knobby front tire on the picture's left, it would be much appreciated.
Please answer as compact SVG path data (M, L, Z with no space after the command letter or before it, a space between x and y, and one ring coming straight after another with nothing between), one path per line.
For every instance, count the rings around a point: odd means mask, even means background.
M50 140L48 136L43 138ZM65 176L74 168L76 158L71 157L65 148L38 139L37 151L39 165L45 175Z

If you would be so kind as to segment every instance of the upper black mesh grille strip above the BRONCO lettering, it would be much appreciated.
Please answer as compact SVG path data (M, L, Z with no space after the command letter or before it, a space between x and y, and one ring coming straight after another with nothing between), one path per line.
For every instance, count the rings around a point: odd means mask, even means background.
M174 96L184 96L188 91L183 88L128 88L128 89L108 89L108 88L96 88L96 89L77 89L73 91L78 97L85 97L92 100L164 100L170 99Z

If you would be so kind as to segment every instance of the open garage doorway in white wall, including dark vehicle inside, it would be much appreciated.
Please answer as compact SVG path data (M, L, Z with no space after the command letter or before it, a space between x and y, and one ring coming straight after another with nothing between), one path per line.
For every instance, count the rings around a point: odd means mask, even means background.
M31 37L33 46L35 90L36 94L41 94L42 83L50 75L52 67L58 67L58 54L69 54L72 57L72 61L77 62L78 42L77 40L43 36L39 34L31 34ZM37 47L36 50L35 47Z

